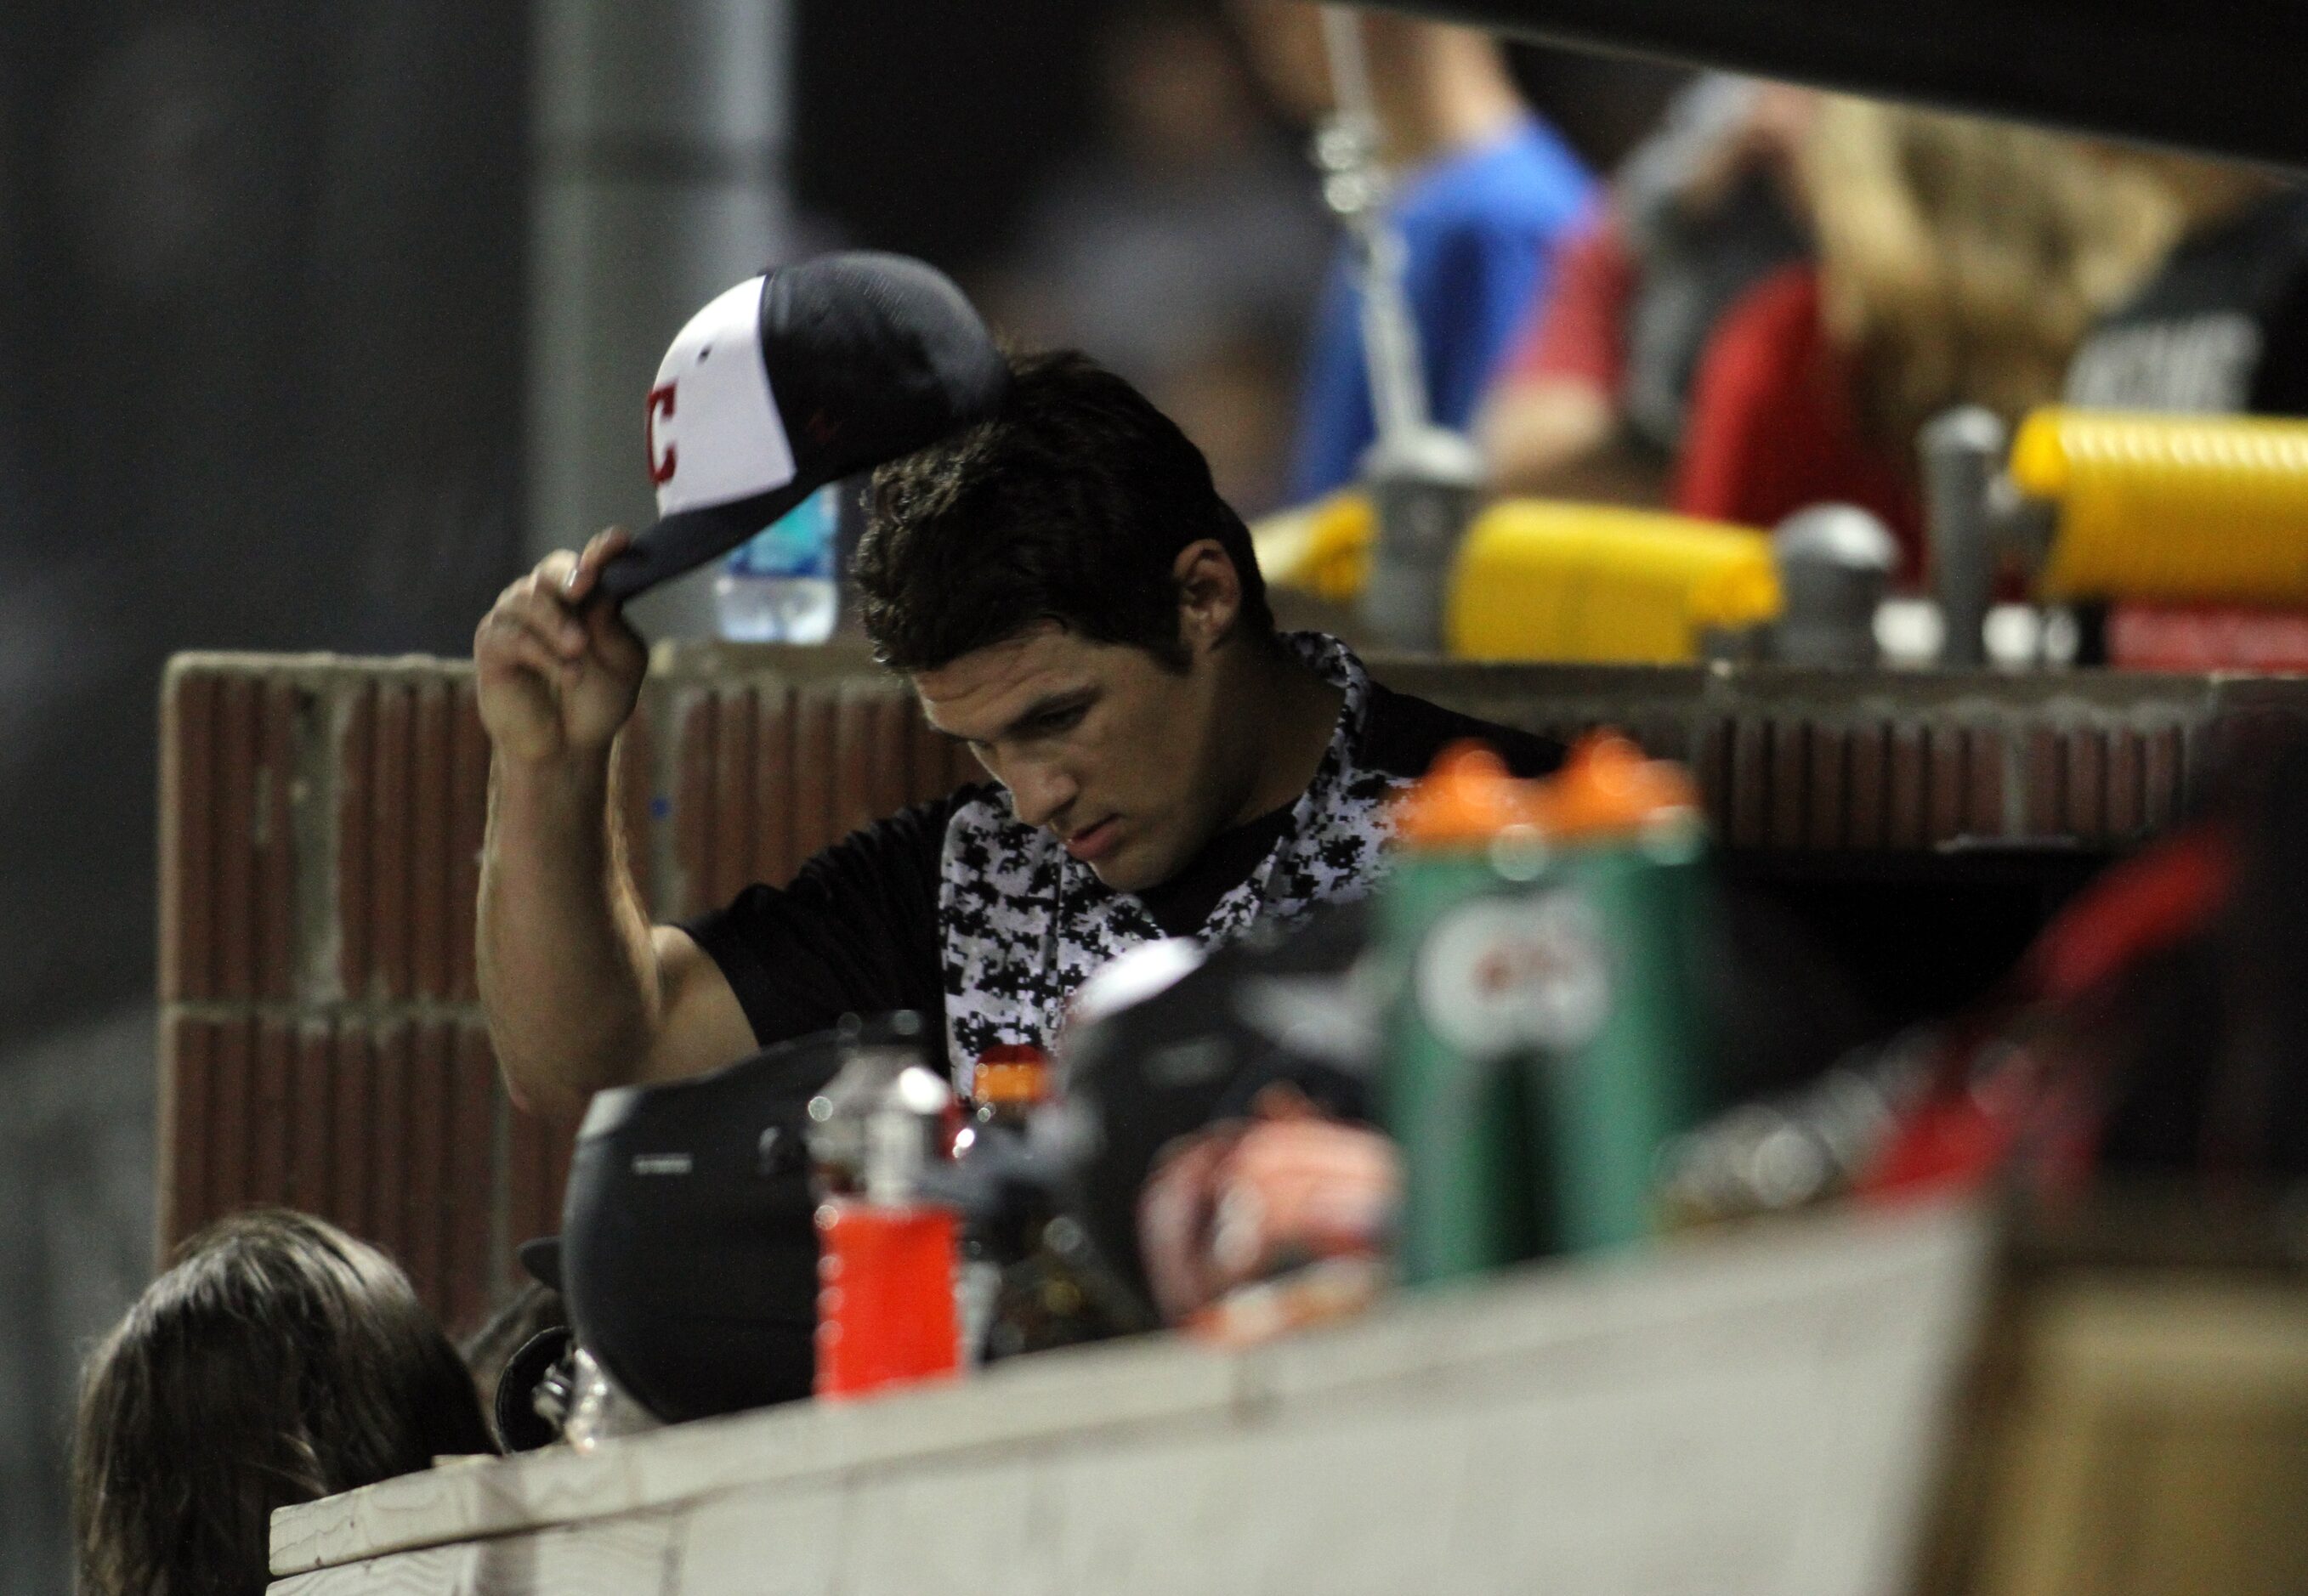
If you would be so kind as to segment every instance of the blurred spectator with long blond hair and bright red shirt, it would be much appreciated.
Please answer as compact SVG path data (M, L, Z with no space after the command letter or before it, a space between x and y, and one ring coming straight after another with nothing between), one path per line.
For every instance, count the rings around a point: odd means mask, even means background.
M1916 581L1916 431L1955 404L2015 422L2056 399L2170 208L2070 138L1844 97L1821 104L1800 173L1819 263L1756 284L1708 341L1673 507L1775 526L1858 505Z

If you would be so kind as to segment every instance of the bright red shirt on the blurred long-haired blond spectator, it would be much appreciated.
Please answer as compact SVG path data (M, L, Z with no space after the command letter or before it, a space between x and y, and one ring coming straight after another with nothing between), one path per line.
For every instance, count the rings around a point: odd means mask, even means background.
M1860 431L1851 362L1819 323L1819 274L1791 265L1724 314L1692 387L1673 507L1777 526L1805 505L1858 505L1923 577L1923 498L1909 464Z

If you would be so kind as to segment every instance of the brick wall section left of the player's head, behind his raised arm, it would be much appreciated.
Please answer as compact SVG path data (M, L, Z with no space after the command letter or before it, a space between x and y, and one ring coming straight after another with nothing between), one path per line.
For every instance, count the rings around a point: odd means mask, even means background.
M441 660L185 655L162 697L159 1239L254 1202L388 1248L457 1328L559 1227L473 973L487 740ZM785 881L967 754L863 662L660 660L621 745L653 913Z

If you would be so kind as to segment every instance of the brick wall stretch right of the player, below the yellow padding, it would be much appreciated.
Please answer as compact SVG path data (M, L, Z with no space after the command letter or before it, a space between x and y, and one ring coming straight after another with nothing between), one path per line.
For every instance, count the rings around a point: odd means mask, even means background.
M1533 731L1620 727L1689 763L1717 835L1759 851L2121 849L2172 823L2225 761L2308 724L2308 678L1376 669L1406 692Z

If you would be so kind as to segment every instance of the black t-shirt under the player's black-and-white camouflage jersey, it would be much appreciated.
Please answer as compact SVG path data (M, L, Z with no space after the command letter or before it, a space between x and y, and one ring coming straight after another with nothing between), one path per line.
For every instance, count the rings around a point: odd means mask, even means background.
M1445 745L1482 738L1516 775L1563 763L1563 745L1371 685L1357 763L1422 775ZM750 886L727 906L683 923L736 992L755 1038L769 1047L824 1031L842 1015L891 1008L944 1012L937 925L939 865L956 805L990 789L965 786L875 821L810 858L792 886ZM1170 881L1140 895L1154 923L1193 934L1283 837L1290 810L1219 833Z

